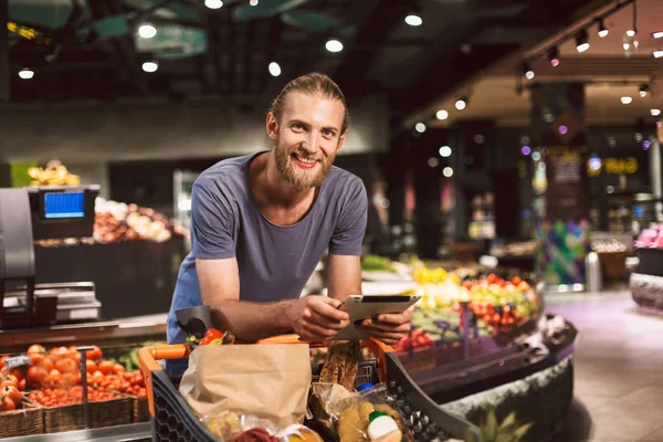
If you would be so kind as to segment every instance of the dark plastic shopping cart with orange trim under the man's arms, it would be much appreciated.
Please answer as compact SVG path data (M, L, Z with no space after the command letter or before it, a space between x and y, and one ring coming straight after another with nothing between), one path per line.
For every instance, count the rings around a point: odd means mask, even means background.
M295 335L261 340L260 345L303 344ZM312 344L312 348L325 347L325 343ZM467 431L478 434L475 425L446 413L433 402L410 378L391 347L368 339L361 343L375 359L359 365L359 381L385 382L389 394L396 398L406 423L417 441L445 441L464 438ZM218 439L193 414L178 392L179 379L169 378L157 360L181 359L189 356L186 345L144 347L138 351L140 370L145 377L149 412L151 414L152 441L213 442ZM322 367L312 366L313 379Z

